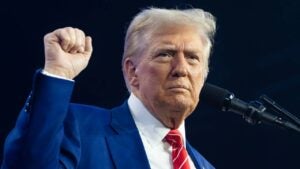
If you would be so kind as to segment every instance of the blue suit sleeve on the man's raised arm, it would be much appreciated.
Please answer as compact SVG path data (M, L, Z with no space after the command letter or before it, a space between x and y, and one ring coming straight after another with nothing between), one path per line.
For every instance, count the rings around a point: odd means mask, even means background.
M68 112L74 82L35 74L33 89L6 138L1 169L76 168L80 141Z

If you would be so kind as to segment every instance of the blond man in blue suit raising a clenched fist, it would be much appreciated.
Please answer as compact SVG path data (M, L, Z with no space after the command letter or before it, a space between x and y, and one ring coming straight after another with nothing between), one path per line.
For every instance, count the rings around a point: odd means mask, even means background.
M6 140L2 169L213 168L186 141L184 120L198 104L214 31L201 9L139 13L122 60L131 95L111 110L70 103L91 37L71 27L45 35L45 66Z

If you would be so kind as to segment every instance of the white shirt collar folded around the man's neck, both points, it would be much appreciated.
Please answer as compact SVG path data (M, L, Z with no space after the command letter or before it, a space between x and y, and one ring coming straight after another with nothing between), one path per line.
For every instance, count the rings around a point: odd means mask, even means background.
M151 146L160 144L170 129L156 119L133 93L130 94L128 99L128 106L139 132L145 136L147 142ZM183 137L185 145L184 122L179 126L178 130Z

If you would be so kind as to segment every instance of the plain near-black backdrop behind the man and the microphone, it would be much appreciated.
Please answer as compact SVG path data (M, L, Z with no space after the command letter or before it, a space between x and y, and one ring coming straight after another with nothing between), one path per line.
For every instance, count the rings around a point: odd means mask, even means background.
M300 117L298 0L1 1L1 152L32 75L43 66L44 34L72 26L93 37L93 57L76 78L73 101L113 107L128 96L120 64L125 30L148 6L193 6L213 13L218 28L208 81L245 101L267 94ZM250 125L205 104L187 120L187 137L219 169L300 168L299 133Z

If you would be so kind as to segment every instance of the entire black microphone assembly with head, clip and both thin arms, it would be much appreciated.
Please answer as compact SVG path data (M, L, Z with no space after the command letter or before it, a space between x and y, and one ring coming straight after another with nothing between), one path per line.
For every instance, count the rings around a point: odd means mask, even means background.
M300 120L265 95L262 95L259 101L246 103L236 98L232 92L213 84L205 83L202 90L201 98L204 98L204 102L221 108L222 111L237 113L243 116L250 124L267 123L300 133ZM267 105L273 113L284 114L287 118L284 119L267 112L265 105Z

